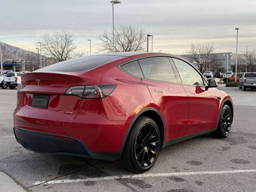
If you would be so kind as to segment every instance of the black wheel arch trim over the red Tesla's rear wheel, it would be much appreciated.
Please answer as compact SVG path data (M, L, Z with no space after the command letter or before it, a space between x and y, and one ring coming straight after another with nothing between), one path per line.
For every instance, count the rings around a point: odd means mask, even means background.
M121 148L120 148L120 152L123 151L123 148L124 148L124 144L126 142L126 139L127 139L127 136L128 134L130 133L130 130L132 128L132 125L133 123L137 120L137 118L139 116L147 116L147 117L150 117L151 119L153 119L158 128L159 128L159 132L160 132L160 136L161 136L161 144L160 144L160 150L163 148L163 144L164 144L164 138L165 138L165 124L164 124L164 119L163 119L163 116L161 115L161 113L153 108L153 107L146 107L144 109L142 109L141 111L139 111L135 117L133 118L133 120L131 121L127 131L126 131L126 134L124 136L124 140L123 140L123 143L121 145Z

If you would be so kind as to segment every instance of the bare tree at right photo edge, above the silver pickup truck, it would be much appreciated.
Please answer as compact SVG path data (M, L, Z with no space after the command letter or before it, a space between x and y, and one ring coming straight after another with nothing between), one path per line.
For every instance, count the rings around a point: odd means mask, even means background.
M247 64L247 72L254 72L256 70L256 49L251 49L247 52L241 50L240 60Z

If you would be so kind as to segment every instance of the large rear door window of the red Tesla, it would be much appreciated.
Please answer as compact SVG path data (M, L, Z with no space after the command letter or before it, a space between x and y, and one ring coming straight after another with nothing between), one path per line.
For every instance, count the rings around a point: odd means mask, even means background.
M149 57L139 59L138 62L145 79L177 83L168 57Z

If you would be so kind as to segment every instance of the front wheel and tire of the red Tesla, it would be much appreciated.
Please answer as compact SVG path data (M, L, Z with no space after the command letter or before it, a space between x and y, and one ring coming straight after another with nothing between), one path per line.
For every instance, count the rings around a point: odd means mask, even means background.
M226 138L230 132L232 121L233 118L231 109L228 105L225 104L220 111L217 129L210 134L214 137Z

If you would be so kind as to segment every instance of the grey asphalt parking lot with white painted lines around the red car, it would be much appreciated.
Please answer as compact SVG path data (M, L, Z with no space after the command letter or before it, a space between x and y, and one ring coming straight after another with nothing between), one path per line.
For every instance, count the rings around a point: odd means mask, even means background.
M25 150L13 134L17 90L0 89L0 172L11 177L20 191L255 191L256 90L219 89L234 103L229 136L217 139L205 134L167 146L145 174L125 171L118 161Z

